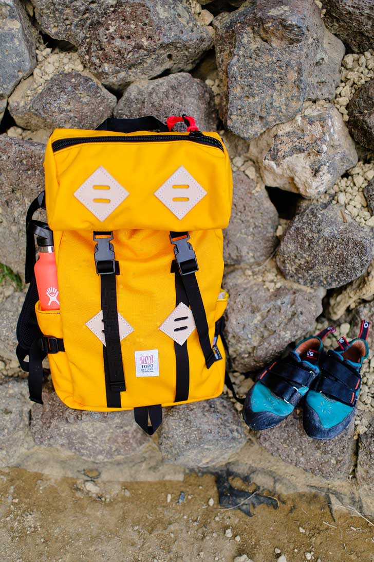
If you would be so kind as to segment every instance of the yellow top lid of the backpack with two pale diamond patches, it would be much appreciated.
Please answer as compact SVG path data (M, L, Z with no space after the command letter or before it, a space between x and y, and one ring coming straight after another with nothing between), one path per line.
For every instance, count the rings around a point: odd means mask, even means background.
M45 152L52 230L228 225L232 173L218 133L56 129Z

